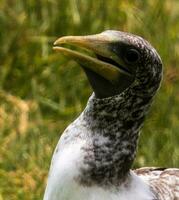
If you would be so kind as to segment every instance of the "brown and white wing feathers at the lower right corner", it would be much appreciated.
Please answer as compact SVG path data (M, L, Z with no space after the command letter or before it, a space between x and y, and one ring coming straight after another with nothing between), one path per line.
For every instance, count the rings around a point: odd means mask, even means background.
M179 200L179 169L144 167L134 172L149 182L156 200Z

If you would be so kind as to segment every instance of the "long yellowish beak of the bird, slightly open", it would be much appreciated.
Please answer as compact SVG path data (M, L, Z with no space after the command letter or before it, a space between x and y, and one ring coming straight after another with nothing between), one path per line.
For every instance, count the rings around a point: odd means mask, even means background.
M110 48L109 44L114 42L115 38L110 37L104 33L89 35L89 36L65 36L57 39L54 43L53 49L61 52L65 56L74 59L77 63L86 67L98 75L102 76L106 80L115 83L118 81L121 75L130 76L127 71L124 71L116 65L123 65L124 63L114 54ZM61 44L72 44L85 49L93 51L96 55L102 56L104 58L110 59L116 63L111 64L110 62L102 61L97 58L79 53L68 48L59 47L57 45Z

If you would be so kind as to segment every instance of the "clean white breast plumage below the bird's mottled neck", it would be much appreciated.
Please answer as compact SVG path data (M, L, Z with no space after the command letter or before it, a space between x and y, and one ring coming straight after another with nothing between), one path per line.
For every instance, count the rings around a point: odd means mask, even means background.
M69 145L58 145L53 156L50 175L44 200L152 200L154 199L146 182L131 172L131 183L119 190L103 189L97 186L84 187L74 179L79 174L83 161L81 147L84 141L78 140ZM60 147L61 146L61 147ZM63 146L63 147L62 147Z

